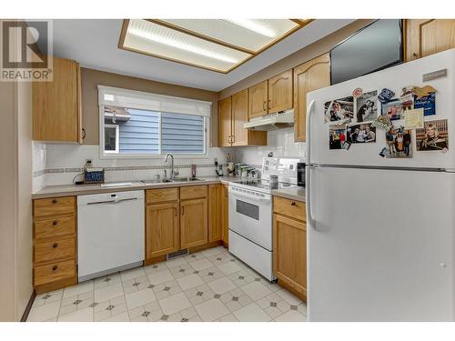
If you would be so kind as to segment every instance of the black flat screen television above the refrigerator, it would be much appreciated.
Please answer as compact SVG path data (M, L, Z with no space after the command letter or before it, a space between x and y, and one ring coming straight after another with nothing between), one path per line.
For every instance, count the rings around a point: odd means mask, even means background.
M379 19L330 50L332 85L403 62L401 19Z

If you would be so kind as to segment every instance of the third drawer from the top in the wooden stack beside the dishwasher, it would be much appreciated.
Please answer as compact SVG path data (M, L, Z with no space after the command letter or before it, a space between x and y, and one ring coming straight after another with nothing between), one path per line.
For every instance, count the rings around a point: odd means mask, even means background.
M62 258L74 258L75 238L55 239L35 244L35 263L52 262Z

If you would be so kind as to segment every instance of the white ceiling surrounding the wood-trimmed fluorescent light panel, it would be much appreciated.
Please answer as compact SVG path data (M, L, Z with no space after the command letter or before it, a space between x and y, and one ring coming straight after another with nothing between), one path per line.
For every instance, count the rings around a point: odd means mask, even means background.
M228 74L119 49L121 19L54 20L53 48L54 55L75 59L82 67L220 91L352 21L314 20Z

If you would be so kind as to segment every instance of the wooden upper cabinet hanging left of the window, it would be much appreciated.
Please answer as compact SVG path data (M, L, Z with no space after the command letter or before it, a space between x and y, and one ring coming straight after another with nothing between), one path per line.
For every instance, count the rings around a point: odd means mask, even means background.
M82 143L79 64L56 57L53 63L52 82L33 83L33 139Z

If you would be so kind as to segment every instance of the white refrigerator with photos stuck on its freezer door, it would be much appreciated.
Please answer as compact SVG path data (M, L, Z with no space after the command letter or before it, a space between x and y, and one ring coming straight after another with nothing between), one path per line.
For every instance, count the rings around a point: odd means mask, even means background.
M455 320L454 72L455 49L308 94L308 320ZM409 85L437 90L424 120L448 120L449 150L418 151L412 130L411 157L381 157L380 128L376 142L329 148L328 101Z

